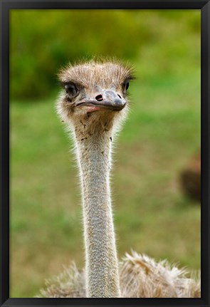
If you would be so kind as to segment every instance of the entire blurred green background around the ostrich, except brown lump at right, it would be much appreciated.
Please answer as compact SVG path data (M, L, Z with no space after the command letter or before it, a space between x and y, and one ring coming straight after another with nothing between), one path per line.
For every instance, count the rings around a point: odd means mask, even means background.
M78 172L54 108L55 76L66 61L93 54L136 68L112 170L118 254L133 249L200 268L200 206L179 184L200 147L200 12L88 13L11 16L11 297L33 297L70 261L84 266ZM80 31L61 23L68 14L83 20Z

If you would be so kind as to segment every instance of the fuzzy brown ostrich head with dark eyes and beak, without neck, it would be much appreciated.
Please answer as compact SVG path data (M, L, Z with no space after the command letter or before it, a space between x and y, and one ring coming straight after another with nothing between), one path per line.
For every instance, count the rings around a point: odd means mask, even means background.
M85 123L89 134L110 130L128 110L127 88L132 68L117 62L90 61L68 66L59 74L63 91L58 114L76 129Z

